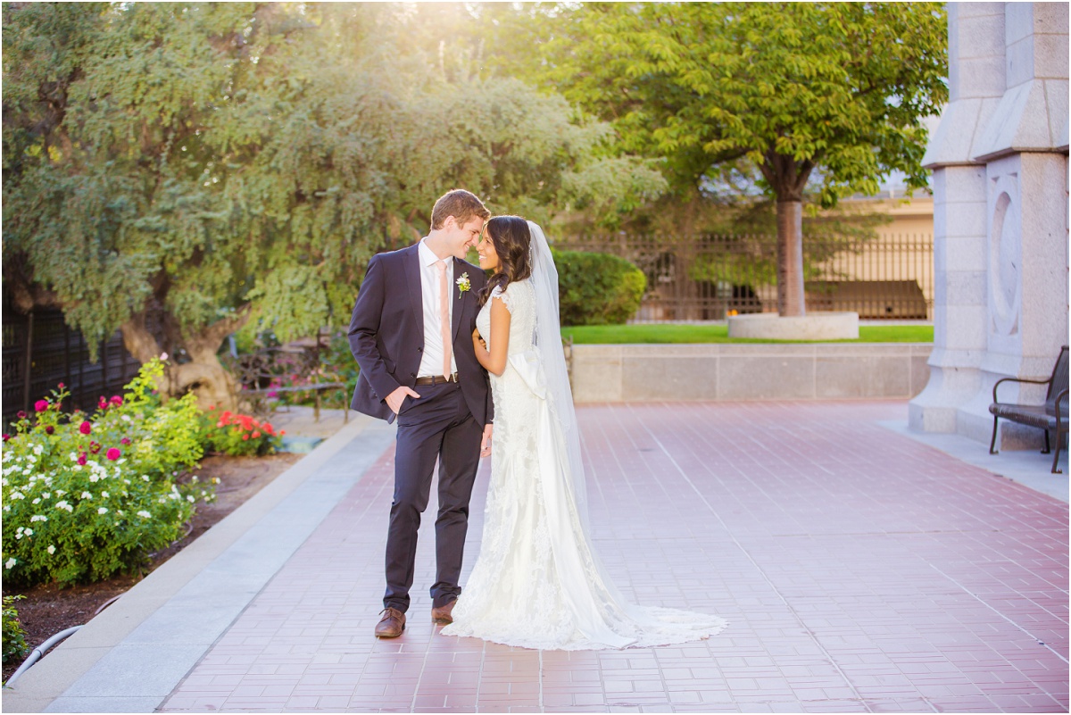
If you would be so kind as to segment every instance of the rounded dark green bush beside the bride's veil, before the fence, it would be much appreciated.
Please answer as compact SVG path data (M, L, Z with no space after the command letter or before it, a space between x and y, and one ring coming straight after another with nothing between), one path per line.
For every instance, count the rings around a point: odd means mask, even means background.
M636 315L647 277L607 254L555 250L562 325L621 324Z

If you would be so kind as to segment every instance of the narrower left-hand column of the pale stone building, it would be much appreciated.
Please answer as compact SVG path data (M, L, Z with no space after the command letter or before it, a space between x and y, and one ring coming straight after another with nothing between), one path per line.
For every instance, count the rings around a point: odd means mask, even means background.
M985 352L984 164L974 159L979 126L1005 91L1001 3L950 3L949 105L922 163L933 169L934 349L930 382L908 405L911 429L956 431L956 409L980 385Z

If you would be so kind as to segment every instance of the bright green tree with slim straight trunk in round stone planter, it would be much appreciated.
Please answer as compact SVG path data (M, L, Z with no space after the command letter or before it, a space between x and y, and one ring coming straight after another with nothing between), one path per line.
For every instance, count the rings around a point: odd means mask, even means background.
M610 121L670 185L754 167L776 200L778 309L802 315L802 204L926 185L924 117L947 101L938 3L586 3L548 45L545 81Z

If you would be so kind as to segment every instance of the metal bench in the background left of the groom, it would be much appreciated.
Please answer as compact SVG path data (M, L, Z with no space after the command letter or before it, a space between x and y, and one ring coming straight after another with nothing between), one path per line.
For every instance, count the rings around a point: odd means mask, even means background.
M319 355L315 350L266 348L237 358L230 358L230 368L240 385L236 395L238 401L246 402L257 416L272 412L271 398L283 393L311 392L314 395L313 410L316 422L320 421L320 393L343 391L344 421L349 422L349 405L346 399L345 382L319 382Z

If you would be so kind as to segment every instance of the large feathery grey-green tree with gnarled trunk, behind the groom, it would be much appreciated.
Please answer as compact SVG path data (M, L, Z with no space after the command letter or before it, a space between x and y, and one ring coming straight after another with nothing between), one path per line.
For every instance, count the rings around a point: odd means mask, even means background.
M94 348L121 329L138 360L172 355L170 392L229 404L228 334L344 321L368 258L426 230L442 192L533 214L590 193L605 125L515 80L444 81L406 12L4 5L16 304L61 307Z

